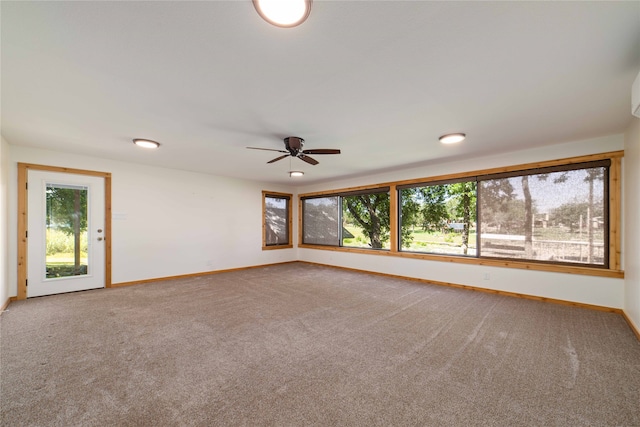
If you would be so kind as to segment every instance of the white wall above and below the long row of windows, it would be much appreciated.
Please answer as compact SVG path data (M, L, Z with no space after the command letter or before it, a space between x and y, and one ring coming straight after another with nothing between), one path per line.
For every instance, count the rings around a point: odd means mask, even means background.
M504 153L498 156L476 158L471 161L449 163L434 162L421 168L406 169L373 176L299 187L298 193L302 194L457 172L468 172L500 166L511 166L536 161L617 151L622 150L623 148L624 136L614 135L604 138L557 144L545 148ZM638 168L640 168L640 164L638 165ZM637 254L638 252L635 253ZM322 264L337 265L386 274L470 285L479 288L535 295L583 304L593 304L612 308L622 308L624 306L623 279L467 264L452 264L449 262L302 248L298 250L298 258L302 261L318 262ZM484 279L486 273L489 274L489 280Z

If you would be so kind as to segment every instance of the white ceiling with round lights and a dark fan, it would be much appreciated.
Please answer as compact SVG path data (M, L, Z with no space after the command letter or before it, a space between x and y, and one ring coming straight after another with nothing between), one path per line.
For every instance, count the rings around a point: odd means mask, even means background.
M640 71L640 1L316 0L292 29L250 0L0 7L10 144L273 183L289 159L245 147L342 150L293 159L303 184L621 133Z

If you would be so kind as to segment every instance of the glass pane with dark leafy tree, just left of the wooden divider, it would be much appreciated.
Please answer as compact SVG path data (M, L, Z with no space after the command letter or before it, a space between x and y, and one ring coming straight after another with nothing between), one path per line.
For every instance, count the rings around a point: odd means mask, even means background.
M342 197L342 245L389 249L389 192Z

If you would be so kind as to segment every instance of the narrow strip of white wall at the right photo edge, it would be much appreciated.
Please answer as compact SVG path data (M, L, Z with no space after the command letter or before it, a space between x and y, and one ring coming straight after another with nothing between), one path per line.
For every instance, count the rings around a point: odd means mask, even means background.
M640 331L640 119L629 126L624 150L624 311Z

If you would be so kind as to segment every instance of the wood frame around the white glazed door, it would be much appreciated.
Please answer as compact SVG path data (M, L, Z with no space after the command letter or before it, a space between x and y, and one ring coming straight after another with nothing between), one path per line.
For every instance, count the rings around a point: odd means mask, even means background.
M27 182L29 170L62 172L77 175L89 175L104 178L104 238L105 265L104 286L111 287L111 173L59 166L18 163L18 296L17 300L27 299Z

